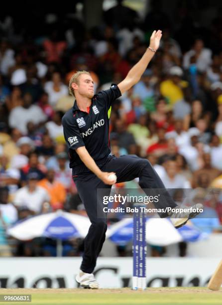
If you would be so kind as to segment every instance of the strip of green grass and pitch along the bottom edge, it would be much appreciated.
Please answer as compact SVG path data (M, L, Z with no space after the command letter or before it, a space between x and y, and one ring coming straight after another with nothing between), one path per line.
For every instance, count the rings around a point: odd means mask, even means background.
M222 290L207 288L148 288L145 291L123 289L0 289L0 294L31 294L30 305L222 305Z

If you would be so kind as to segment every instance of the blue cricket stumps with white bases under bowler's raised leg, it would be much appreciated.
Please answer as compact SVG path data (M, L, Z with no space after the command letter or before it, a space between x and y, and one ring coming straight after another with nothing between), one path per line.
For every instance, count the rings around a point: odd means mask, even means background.
M133 277L132 289L146 289L146 215L143 205L134 204L133 214Z

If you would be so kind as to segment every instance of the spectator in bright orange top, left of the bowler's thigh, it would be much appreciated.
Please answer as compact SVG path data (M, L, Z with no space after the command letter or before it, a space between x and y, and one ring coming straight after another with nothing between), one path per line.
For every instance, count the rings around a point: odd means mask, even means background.
M63 184L55 180L54 169L49 169L46 177L38 182L49 194L49 202L53 210L62 209L66 200L66 190Z

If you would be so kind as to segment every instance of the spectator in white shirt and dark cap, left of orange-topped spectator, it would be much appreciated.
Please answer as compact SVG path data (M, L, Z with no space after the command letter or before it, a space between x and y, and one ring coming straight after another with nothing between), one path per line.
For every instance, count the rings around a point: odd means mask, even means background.
M38 186L39 177L36 172L30 172L27 179L27 185L15 193L13 204L17 208L27 207L32 214L39 214L42 210L42 204L50 200L49 194L44 188Z

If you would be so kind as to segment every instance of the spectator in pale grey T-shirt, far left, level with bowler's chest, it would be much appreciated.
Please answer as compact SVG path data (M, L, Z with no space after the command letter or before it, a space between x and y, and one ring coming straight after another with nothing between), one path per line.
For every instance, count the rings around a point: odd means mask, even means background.
M23 135L27 134L27 123L32 119L34 124L46 121L46 115L37 105L32 105L32 97L26 93L23 97L23 105L12 109L9 115L9 126L17 128Z

